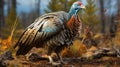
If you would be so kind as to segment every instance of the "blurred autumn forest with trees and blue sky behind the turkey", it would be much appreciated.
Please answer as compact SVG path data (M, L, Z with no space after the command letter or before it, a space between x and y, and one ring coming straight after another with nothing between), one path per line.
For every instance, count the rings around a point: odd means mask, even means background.
M25 0L31 1L32 0ZM73 2L78 0L44 0L47 5L43 5L43 0L34 0L30 3L29 11L19 11L24 8L18 0L0 0L0 46L7 49L15 43L22 31L34 20L49 12L66 11L68 12ZM79 0L86 5L86 10L79 13L83 30L82 34L91 32L90 35L95 41L102 41L106 45L109 40L118 37L120 29L120 0ZM29 3L29 2L28 2ZM19 6L22 6L20 8ZM47 7L47 8L44 8ZM84 37L84 35L81 35ZM88 39L91 39L88 38ZM87 40L87 39L86 39ZM104 42L107 41L107 42ZM117 40L119 42L119 40ZM76 41L75 44L78 44ZM99 42L100 44L101 42ZM80 44L80 43L79 43ZM98 43L97 43L98 44ZM120 44L120 43L118 43ZM76 47L74 47L76 48Z

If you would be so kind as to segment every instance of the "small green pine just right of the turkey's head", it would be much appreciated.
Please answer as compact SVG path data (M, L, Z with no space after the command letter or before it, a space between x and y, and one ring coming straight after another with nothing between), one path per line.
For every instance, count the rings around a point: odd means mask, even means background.
M82 22L89 26L91 30L99 23L98 16L96 15L97 8L94 2L94 0L87 0L86 9L84 12L80 13Z

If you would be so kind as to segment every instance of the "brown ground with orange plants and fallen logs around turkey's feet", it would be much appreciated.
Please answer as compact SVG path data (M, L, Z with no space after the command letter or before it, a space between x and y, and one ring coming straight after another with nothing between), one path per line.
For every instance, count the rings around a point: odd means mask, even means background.
M104 36L103 38L101 37L100 39L96 38L95 40L99 41L98 46L91 47L89 49L87 48L87 50L86 48L84 48L84 44L81 45L80 41L75 41L74 45L71 47L70 50L65 49L63 51L64 52L62 54L63 59L65 62L67 62L67 64L58 65L57 67L120 67L120 58L119 56L117 56L117 54L120 52L119 50L120 32L118 32L116 37L112 39L112 42L107 36ZM78 48L79 45L81 45L81 48ZM114 46L114 50L113 50L113 46ZM105 50L107 51L104 52L103 49L101 51L100 50L101 48L105 48ZM118 53L116 53L115 49L116 50L118 49ZM40 54L39 56L33 57L33 59L25 58L25 56L16 57L14 55L15 54L14 51L12 53L10 52L10 53L4 54L4 51L0 52L1 54L0 67L56 67L48 64L47 59L40 59L41 54L44 54L45 52L44 50L40 50L40 49L31 50L31 52L29 53L35 52L35 54L37 55ZM98 54L96 55L96 53ZM96 55L97 58L91 57L94 55ZM83 57L86 57L86 58L83 58Z

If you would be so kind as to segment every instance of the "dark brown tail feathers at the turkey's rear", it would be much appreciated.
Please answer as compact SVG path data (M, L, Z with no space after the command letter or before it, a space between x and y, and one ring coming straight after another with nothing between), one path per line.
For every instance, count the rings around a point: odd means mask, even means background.
M25 55L33 48L36 34L37 31L35 29L30 29L30 28L27 29L25 32L23 32L20 39L14 46L14 48L19 46L16 55Z

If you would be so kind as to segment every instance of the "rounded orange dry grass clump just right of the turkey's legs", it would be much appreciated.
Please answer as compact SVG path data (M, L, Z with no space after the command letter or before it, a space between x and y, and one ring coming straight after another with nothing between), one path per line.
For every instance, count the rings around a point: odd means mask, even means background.
M65 48L62 51L63 57L80 57L87 51L86 46L81 44L81 41L75 40L73 46L70 49Z

